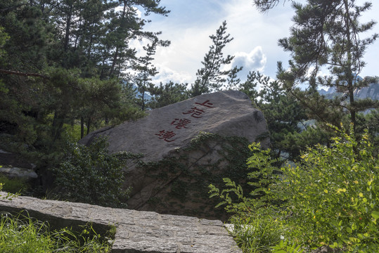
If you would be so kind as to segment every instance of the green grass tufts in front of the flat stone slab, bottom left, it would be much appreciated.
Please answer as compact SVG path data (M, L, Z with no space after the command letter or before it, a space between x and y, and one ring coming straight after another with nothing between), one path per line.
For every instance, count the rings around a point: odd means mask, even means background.
M51 231L49 223L34 220L29 216L0 214L1 253L105 253L110 252L109 237L102 237L96 233L91 224L84 226L80 233L67 228Z

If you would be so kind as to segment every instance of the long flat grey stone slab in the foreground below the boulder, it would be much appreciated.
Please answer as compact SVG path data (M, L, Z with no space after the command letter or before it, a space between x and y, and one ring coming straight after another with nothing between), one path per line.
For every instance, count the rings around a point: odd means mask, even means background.
M0 192L0 195L7 193ZM162 215L129 209L112 209L82 203L39 200L34 197L0 197L0 212L27 210L53 228L78 228L92 222L98 233L117 227L112 252L232 253L242 252L221 221L187 216Z

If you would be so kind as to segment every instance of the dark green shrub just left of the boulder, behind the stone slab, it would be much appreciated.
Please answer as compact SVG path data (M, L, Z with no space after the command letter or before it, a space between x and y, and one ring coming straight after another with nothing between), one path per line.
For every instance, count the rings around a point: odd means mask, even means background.
M124 154L110 155L104 138L89 147L68 142L59 167L53 169L63 199L107 207L125 207L129 189L124 183Z

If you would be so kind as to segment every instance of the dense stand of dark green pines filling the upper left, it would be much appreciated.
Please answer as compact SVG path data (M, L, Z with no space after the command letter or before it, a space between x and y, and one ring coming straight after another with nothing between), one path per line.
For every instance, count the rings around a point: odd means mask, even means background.
M65 124L80 122L83 137L103 122L140 117L120 98L136 54L129 42L169 42L143 30L137 7L169 13L159 1L0 1L1 132L51 151Z

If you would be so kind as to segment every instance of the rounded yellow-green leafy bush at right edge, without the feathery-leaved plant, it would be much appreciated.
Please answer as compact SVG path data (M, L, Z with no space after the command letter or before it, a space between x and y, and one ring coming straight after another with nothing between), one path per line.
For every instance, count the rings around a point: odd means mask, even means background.
M338 130L338 129L336 129ZM280 194L305 242L373 252L379 236L378 156L368 134L342 129L331 148L316 145L297 166L282 169ZM307 239L306 239L307 238Z

